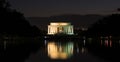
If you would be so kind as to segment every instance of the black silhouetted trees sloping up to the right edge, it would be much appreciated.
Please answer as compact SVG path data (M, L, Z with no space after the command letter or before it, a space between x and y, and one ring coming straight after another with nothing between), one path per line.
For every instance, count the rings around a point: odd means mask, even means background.
M120 14L112 14L94 23L85 32L88 37L120 36Z

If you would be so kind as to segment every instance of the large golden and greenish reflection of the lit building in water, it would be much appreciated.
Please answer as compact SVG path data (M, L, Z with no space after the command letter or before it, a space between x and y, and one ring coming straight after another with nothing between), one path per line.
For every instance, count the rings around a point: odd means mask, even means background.
M67 59L73 55L73 43L71 42L66 44L49 42L47 49L51 59Z

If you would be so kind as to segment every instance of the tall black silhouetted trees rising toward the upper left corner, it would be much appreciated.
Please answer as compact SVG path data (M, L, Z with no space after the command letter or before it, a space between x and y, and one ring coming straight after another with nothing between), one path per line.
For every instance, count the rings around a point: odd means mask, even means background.
M0 36L41 36L45 32L31 26L24 15L10 8L9 2L0 0Z

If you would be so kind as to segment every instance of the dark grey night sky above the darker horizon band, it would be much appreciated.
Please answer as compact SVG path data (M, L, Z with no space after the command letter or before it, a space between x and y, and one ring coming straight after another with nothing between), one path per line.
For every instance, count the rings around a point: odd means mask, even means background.
M26 17L59 14L109 14L120 7L120 0L8 0Z

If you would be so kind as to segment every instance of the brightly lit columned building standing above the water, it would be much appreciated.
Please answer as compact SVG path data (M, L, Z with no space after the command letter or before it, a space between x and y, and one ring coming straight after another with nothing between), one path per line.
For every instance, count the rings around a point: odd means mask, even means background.
M48 25L48 34L54 35L58 33L64 33L67 35L73 35L73 25L66 22L53 22Z

